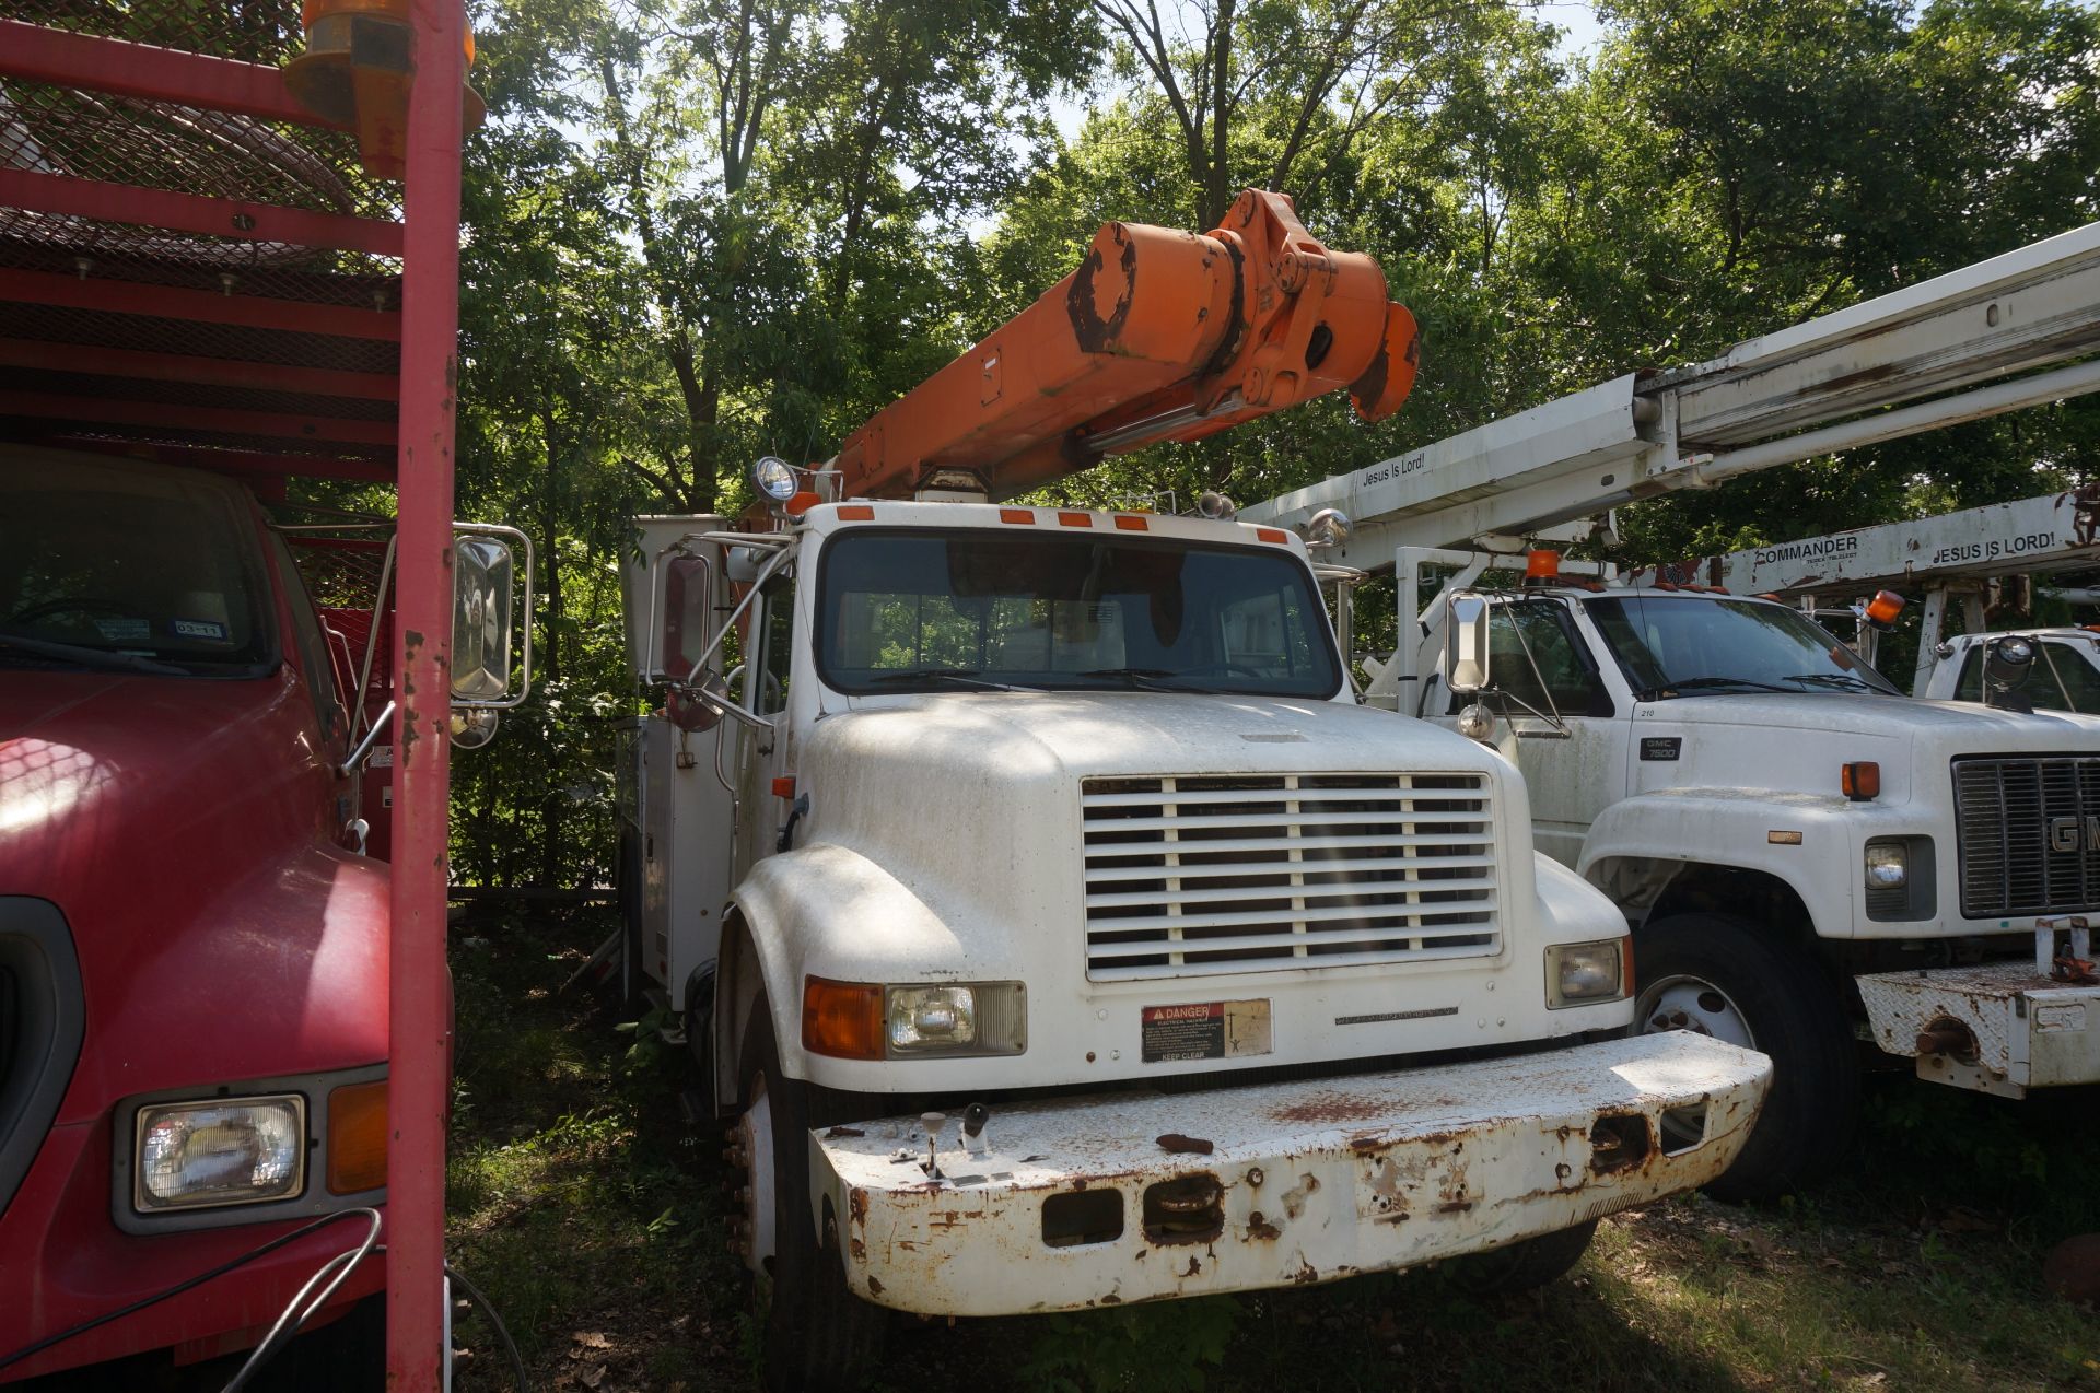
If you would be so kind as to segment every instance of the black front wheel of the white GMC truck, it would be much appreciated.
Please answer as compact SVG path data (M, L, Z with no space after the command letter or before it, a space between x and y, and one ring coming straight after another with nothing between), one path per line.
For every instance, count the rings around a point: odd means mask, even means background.
M1642 1034L1697 1030L1772 1057L1764 1112L1728 1173L1705 1192L1770 1200L1844 1154L1858 1110L1858 1059L1844 996L1796 944L1728 915L1672 915L1634 938ZM1663 1116L1663 1143L1699 1139L1699 1114Z

